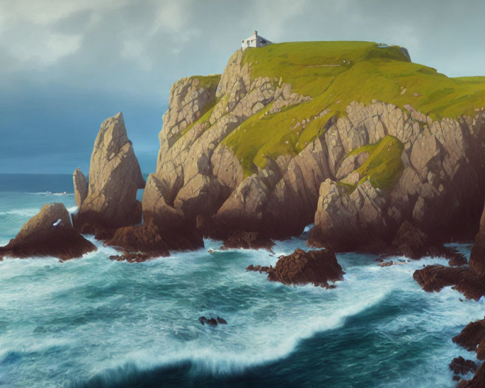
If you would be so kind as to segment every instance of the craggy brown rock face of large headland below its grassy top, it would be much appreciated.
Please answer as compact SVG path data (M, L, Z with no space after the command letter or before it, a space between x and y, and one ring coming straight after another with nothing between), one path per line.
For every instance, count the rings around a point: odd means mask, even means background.
M411 105L376 100L351 102L339 118L322 107L297 123L322 123L301 151L266 156L264 168L253 164L248 173L227 137L248 119L312 97L281 78L252 79L242 56L231 56L220 80L192 77L172 86L157 170L143 197L145 220L163 232L193 229L201 216L205 233L222 239L241 230L286 238L315 222L311 243L332 241L337 250L371 237L390 241L404 220L432 239L473 235L477 198L485 194L482 111L436 121Z

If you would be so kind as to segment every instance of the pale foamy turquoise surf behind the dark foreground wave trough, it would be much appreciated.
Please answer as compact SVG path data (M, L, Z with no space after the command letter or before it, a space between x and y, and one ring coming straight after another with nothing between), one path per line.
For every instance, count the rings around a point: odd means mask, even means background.
M195 252L145 263L111 261L116 250L88 239L98 250L82 259L0 262L0 374L8 374L12 386L63 386L66 376L87 381L117 368L147 371L185 361L194 373L243 372L291 355L315 333L345 330L348 319L389 300L408 303L378 329L396 346L405 336L419 342L442 331L458 333L483 317L483 304L459 302L451 288L425 293L414 282L417 268L443 259L381 268L370 255L341 254L344 281L326 290L288 287L244 270L249 264L275 265L280 254L296 247L308 249L301 239L277 242L274 255L217 251L221 242L206 240ZM210 247L214 253L207 252ZM419 310L422 300L426 306ZM228 324L198 322L199 316L216 315ZM413 332L415 327L420 330ZM20 355L15 366L2 364L9 352ZM446 371L449 356L457 352L462 351L450 340L420 362L420 374L408 373L384 386L433 387L436 365ZM24 360L23 355L29 356Z

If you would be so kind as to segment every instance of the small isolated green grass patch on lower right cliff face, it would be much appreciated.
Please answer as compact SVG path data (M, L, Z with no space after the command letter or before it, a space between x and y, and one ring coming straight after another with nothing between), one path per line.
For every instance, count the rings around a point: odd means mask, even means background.
M357 148L354 151L356 154L363 151L371 153L369 158L357 169L362 177L358 183L369 179L374 187L383 190L390 189L403 172L404 167L401 160L403 150L403 143L389 135L375 145Z

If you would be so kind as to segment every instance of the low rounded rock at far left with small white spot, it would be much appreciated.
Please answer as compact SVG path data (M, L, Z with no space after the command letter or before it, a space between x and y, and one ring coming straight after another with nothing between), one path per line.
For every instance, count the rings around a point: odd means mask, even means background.
M67 260L79 258L96 249L73 229L64 204L53 203L44 205L37 215L27 221L15 239L0 248L0 256L54 256Z

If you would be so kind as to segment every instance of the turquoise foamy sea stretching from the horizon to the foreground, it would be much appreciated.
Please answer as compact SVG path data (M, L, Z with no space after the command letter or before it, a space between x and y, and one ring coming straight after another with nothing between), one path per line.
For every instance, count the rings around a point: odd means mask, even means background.
M0 244L57 201L77 210L71 175L0 175ZM205 240L145 263L111 261L113 248L87 238L98 250L82 259L0 261L1 388L451 388L453 357L476 359L451 339L484 305L412 278L444 259L381 268L338 254L346 274L326 290L245 271L308 249L305 234L275 255ZM227 325L199 323L218 315Z

